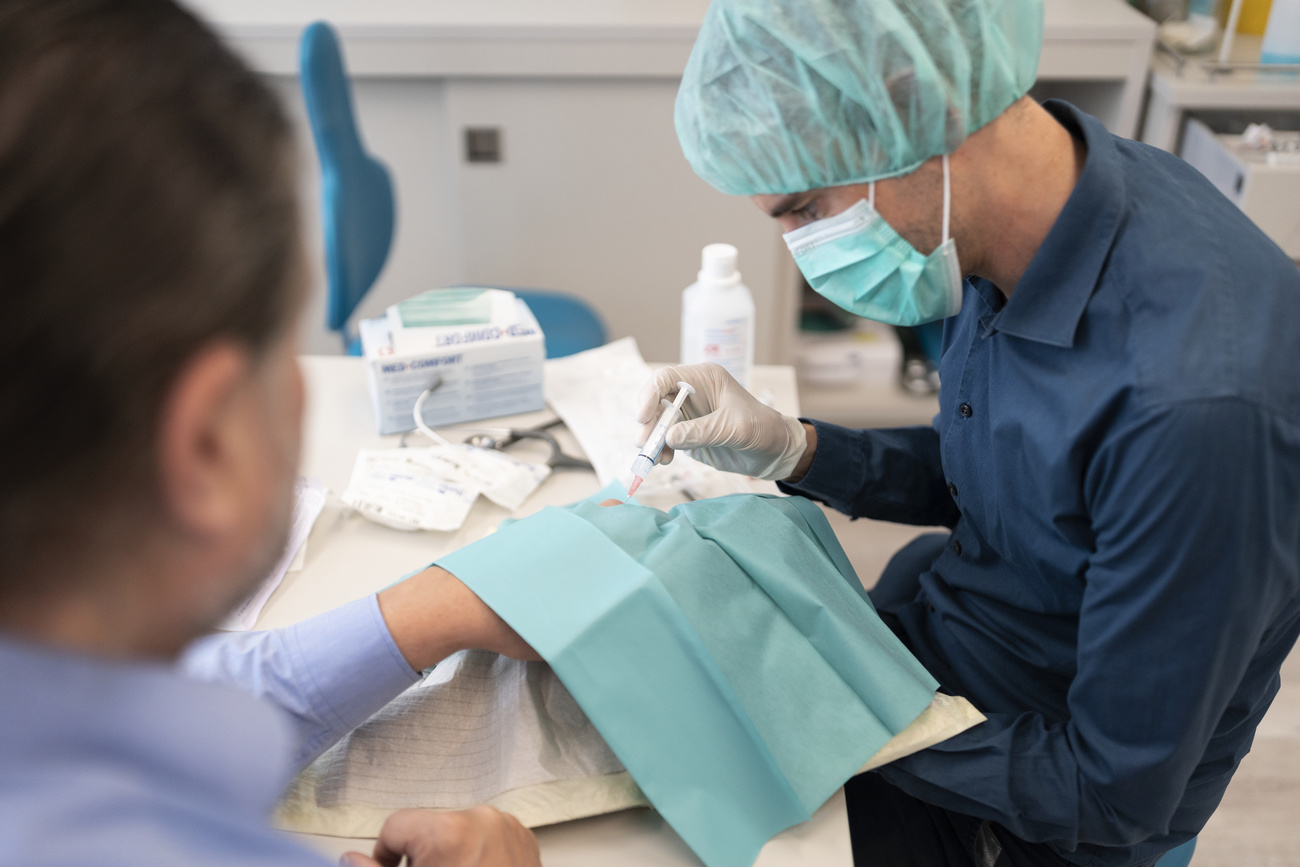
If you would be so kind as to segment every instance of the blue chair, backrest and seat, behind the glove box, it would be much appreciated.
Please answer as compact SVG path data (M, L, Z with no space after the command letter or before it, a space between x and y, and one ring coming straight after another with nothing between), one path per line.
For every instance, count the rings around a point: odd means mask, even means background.
M348 355L361 354L347 321L384 269L393 246L395 200L387 168L367 153L352 110L352 88L338 34L322 21L307 26L299 55L303 100L321 161L325 218L325 318L339 331ZM604 325L580 298L538 289L511 290L537 317L554 359L604 343Z

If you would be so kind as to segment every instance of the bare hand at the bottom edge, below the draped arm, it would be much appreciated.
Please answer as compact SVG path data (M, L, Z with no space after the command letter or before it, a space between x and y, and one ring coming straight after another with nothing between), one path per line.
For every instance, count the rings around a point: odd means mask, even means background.
M458 812L399 810L374 841L374 857L350 851L341 867L541 867L537 838L515 816L493 807Z

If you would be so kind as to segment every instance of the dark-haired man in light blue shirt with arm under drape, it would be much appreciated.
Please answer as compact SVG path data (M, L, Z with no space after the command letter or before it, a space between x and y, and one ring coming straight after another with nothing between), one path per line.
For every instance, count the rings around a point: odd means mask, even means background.
M441 569L191 645L285 545L292 153L170 1L0 4L5 863L321 863L265 824L299 767L456 650L536 658ZM540 863L485 807L395 814L346 861L403 855Z

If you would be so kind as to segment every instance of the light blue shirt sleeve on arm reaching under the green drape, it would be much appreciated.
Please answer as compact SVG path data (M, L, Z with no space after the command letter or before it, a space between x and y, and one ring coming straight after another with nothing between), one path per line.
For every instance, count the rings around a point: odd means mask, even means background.
M374 595L282 629L202 638L186 650L181 669L289 714L299 768L419 680Z

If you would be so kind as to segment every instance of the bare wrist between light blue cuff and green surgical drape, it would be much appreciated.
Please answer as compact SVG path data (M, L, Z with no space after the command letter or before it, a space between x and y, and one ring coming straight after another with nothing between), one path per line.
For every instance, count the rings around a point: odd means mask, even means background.
M469 588L436 565L380 593L380 612L398 650L416 671L471 649L541 659Z

